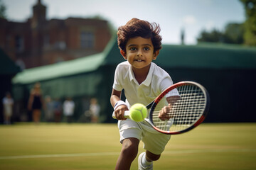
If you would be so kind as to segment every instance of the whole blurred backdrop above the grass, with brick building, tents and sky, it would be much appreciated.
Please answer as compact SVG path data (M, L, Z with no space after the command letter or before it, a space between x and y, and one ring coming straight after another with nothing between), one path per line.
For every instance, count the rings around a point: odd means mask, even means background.
M131 18L159 23L155 62L174 83L208 89L206 122L256 122L255 0L0 0L0 122L114 123L116 33Z

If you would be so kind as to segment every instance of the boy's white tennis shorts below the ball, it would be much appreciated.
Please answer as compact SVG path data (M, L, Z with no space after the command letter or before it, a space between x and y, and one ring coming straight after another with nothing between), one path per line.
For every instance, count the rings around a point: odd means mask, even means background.
M143 122L134 122L133 120L119 120L118 128L120 133L120 142L129 137L137 138L144 142L144 149L153 154L161 154L169 142L171 135L157 132L145 120Z

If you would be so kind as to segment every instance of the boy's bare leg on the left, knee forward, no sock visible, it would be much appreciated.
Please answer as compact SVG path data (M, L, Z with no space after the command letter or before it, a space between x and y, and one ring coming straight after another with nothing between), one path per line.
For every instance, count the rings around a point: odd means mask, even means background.
M134 137L127 138L122 142L122 150L117 159L116 170L129 170L132 162L137 157L139 140Z

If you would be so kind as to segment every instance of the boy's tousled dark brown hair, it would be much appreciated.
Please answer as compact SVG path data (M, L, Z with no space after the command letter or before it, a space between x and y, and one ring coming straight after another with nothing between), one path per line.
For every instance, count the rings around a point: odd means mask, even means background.
M151 38L154 46L154 52L161 49L161 35L160 27L156 23L149 23L148 21L132 18L124 26L120 26L117 31L117 42L120 50L125 50L127 41L130 38Z

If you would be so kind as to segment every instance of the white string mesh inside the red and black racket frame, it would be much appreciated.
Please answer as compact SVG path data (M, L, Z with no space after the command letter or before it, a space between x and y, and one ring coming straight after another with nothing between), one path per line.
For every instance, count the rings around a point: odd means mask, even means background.
M206 97L198 86L185 85L177 88L179 99L171 102L168 101L165 106L171 103L168 112L169 120L161 120L159 111L162 106L156 108L152 113L152 122L160 130L180 131L196 123L196 120L203 114L206 106ZM166 97L161 100L166 101Z

